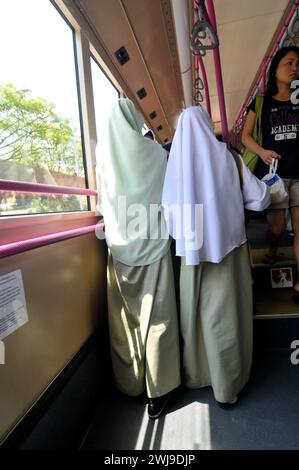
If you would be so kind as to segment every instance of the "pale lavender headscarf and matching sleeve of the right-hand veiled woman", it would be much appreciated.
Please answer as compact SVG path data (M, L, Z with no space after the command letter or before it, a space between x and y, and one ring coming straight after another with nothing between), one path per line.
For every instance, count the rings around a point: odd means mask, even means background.
M262 210L270 202L268 189L247 167L243 169L245 205ZM246 241L237 165L226 144L216 139L201 107L190 107L180 116L162 203L169 212L167 225L176 240L176 254L185 256L187 265L219 263Z

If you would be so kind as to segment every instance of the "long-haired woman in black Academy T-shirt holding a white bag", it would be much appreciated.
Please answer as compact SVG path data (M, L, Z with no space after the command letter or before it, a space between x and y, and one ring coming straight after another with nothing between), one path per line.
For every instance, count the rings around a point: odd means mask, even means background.
M267 211L269 253L264 262L274 264L277 260L278 243L286 228L285 209L289 208L295 233L294 254L299 272L299 99L298 90L291 88L292 82L298 77L299 48L291 46L279 49L271 62L264 97L261 116L263 145L258 145L252 137L255 122L254 101L249 106L242 142L260 157L255 172L259 178L269 172L272 158L279 160L277 173L284 179L289 192L288 200L282 204L271 205ZM298 88L297 83L293 85ZM294 289L299 294L298 281Z

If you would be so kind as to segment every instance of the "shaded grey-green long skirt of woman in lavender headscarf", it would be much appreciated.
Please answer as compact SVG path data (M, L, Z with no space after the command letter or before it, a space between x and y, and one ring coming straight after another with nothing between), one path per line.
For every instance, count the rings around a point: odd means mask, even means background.
M252 283L247 244L221 263L186 266L180 274L184 383L212 386L228 402L248 381L252 361Z

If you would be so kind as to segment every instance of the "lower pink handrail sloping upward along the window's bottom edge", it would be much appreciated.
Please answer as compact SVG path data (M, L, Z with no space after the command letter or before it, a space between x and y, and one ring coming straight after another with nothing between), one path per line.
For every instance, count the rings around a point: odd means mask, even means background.
M34 248L40 248L44 245L51 245L52 243L78 237L80 235L85 235L87 233L94 232L96 229L102 230L103 226L104 224L88 225L87 227L75 228L64 232L52 233L51 235L43 235L41 237L1 245L0 258L22 253L27 250L33 250Z

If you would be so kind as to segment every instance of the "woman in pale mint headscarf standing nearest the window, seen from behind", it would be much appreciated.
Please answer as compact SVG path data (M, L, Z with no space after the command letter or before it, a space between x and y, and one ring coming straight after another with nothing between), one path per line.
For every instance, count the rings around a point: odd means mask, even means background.
M143 137L142 116L120 99L99 148L108 258L108 315L116 385L146 390L157 418L180 384L179 335L170 240L161 212L166 152Z

